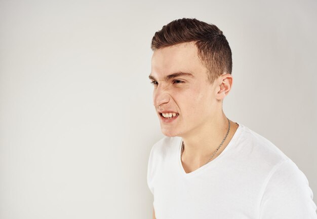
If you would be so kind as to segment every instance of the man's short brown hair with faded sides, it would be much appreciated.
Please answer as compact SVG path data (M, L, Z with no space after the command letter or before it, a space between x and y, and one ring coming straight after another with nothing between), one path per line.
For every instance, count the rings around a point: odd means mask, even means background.
M192 41L197 47L197 55L208 69L208 80L211 84L223 72L231 74L231 49L222 31L214 24L195 18L182 18L164 25L160 31L155 32L151 49L155 51Z

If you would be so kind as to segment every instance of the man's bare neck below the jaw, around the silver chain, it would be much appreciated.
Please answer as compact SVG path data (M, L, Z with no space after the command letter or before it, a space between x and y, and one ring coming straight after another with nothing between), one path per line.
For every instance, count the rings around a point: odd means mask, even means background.
M230 133L233 122L230 121L230 131L223 142L220 149L215 154L220 154L230 141ZM190 160L193 163L206 163L208 158L217 150L220 143L224 139L228 131L228 119L221 111L220 115L206 122L202 127L191 130L190 134L181 136L184 142L182 157Z

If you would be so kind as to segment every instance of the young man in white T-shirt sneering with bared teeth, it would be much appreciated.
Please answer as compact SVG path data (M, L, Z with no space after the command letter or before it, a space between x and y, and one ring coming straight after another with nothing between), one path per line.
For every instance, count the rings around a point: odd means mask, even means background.
M166 135L148 161L153 218L317 218L296 164L223 113L233 80L222 31L183 18L157 31L151 48L153 104Z

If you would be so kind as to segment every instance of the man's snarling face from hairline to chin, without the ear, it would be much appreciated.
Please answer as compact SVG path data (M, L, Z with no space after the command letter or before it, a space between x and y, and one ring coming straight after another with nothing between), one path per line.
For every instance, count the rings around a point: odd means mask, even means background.
M204 130L222 109L221 100L215 98L217 86L208 82L207 68L193 42L154 51L149 78L154 86L153 104L166 136Z

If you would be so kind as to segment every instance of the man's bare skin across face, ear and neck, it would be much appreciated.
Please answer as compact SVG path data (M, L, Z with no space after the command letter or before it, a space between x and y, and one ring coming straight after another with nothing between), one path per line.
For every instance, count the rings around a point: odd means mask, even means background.
M153 83L153 105L163 134L180 136L184 141L182 163L186 172L206 164L228 129L222 102L231 89L232 76L224 72L210 84L207 71L197 55L194 42L161 48L152 55L149 78ZM186 72L192 76L167 78L175 72ZM179 115L167 123L163 121L161 111ZM230 122L230 132L213 159L222 152L237 129L238 125Z

